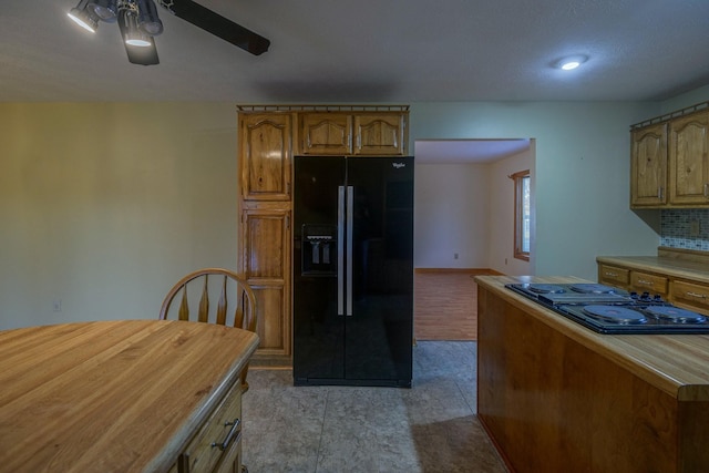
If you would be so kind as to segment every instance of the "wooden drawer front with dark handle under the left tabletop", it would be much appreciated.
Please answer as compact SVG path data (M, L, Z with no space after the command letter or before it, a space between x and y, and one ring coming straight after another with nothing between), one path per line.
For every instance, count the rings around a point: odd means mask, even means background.
M183 452L181 460L186 471L181 473L213 471L225 454L232 453L235 444L240 444L240 436L242 387L237 380L222 404Z

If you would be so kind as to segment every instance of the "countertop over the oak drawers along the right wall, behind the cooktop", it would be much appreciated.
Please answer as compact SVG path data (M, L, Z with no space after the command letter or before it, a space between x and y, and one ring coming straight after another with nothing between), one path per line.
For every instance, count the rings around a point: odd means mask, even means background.
M596 261L709 284L709 264L666 256L598 256Z

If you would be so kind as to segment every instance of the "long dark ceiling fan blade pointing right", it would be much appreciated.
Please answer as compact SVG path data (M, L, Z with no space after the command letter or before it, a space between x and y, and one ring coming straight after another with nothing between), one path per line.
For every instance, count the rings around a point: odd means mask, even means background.
M192 0L172 0L171 2L160 0L160 3L176 17L254 55L259 55L268 51L268 47L270 45L269 40Z

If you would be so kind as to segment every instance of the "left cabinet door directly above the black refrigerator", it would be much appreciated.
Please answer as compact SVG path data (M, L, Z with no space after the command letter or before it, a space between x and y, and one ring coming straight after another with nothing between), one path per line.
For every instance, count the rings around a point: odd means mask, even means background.
M300 115L301 154L345 155L352 153L352 115L304 113Z

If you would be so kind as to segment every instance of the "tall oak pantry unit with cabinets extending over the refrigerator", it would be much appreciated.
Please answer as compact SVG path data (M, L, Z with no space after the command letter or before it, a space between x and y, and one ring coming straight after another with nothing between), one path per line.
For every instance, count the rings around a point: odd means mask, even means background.
M408 105L239 105L238 270L257 298L253 363L292 357L295 155L407 155Z

